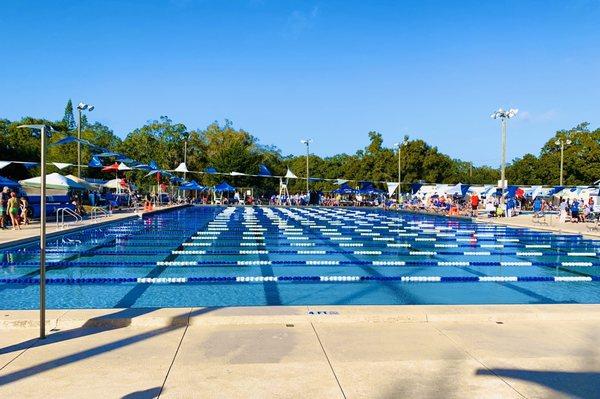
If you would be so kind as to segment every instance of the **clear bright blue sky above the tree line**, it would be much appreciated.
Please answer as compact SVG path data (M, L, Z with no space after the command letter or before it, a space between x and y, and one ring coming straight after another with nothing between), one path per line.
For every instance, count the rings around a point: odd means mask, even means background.
M117 135L167 115L262 144L354 153L380 132L475 165L600 126L600 0L0 3L0 118L95 105Z

